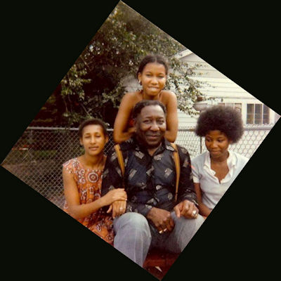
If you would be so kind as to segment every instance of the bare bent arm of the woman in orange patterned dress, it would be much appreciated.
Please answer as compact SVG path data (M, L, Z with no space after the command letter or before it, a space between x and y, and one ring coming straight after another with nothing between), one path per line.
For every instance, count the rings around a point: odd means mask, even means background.
M89 204L80 204L79 192L77 184L65 167L63 167L63 187L65 192L65 200L72 217L85 218L98 211L101 207L107 206L116 200L126 200L126 192L122 188L111 190L105 196L100 197Z

